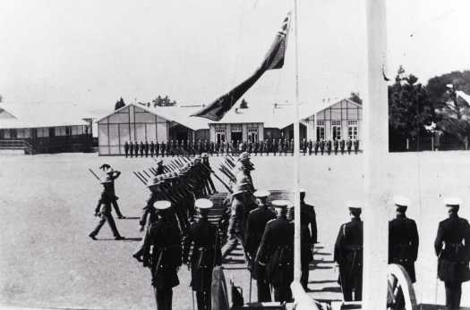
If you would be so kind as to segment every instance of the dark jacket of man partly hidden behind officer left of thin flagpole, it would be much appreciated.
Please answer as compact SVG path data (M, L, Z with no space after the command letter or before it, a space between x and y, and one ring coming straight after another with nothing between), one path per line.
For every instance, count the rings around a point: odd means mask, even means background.
M250 256L251 260L256 258L256 253L258 252L258 247L260 247L266 223L274 220L275 218L276 214L269 210L267 206L260 206L248 214L248 218L246 220L244 249ZM259 279L259 276L262 276L262 272L257 270L257 268L253 268L253 277L255 279Z

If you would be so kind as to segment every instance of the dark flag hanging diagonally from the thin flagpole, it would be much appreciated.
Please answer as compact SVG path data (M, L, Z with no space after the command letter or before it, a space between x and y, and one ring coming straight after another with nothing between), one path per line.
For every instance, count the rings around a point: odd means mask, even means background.
M268 53L264 57L260 67L252 73L252 75L244 80L242 83L237 85L235 88L230 90L223 96L218 97L216 101L210 105L205 106L197 113L191 116L204 117L212 121L220 121L222 117L228 112L232 106L244 96L244 93L250 89L257 80L261 78L264 72L273 69L280 69L284 65L284 57L286 54L287 46L287 35L289 33L290 26L290 13L287 13L286 18L282 22L281 28L274 38L274 42L269 48Z

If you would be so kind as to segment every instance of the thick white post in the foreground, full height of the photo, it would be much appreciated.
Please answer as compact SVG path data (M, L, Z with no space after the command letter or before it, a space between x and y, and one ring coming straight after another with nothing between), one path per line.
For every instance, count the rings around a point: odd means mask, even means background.
M388 89L382 77L387 62L385 0L367 0L368 83L363 105L363 167L366 204L363 212L363 309L387 304L389 153Z

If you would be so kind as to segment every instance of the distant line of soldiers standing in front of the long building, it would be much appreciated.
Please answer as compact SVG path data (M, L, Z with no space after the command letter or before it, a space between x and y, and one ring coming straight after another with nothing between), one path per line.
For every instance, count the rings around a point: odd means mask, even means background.
M294 154L294 140L273 138L261 141L209 141L199 140L169 140L158 143L153 141L126 141L124 143L125 157L181 156L181 155L235 155L247 152L252 155L287 155ZM307 140L300 143L303 155L350 155L359 151L358 139Z

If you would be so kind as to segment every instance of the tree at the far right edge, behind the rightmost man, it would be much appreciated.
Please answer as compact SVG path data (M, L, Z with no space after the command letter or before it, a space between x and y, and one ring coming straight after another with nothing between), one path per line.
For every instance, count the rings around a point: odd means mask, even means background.
M452 71L434 77L426 89L436 108L437 130L442 131L447 143L464 147L470 136L470 105L457 96L457 91L470 93L470 71Z

